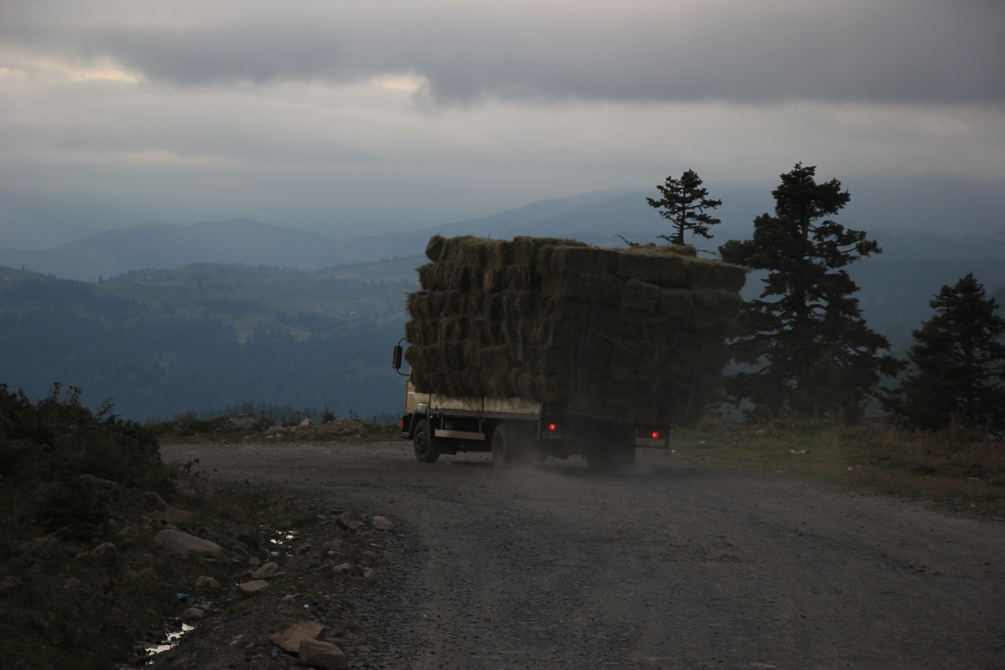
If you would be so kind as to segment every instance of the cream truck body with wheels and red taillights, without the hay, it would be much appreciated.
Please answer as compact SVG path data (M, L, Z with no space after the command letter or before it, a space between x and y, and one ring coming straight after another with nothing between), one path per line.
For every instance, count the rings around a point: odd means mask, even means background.
M398 345L392 367L400 371L401 362ZM526 398L418 393L410 379L400 426L422 463L435 463L443 454L491 452L497 468L582 456L594 470L632 465L637 447L667 449L670 428L555 411Z

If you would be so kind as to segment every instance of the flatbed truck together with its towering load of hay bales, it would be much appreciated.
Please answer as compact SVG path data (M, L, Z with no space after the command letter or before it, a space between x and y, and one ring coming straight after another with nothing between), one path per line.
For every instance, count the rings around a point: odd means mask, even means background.
M623 467L719 393L744 268L689 245L541 237L435 235L426 256L392 359L409 365L401 435L419 461Z

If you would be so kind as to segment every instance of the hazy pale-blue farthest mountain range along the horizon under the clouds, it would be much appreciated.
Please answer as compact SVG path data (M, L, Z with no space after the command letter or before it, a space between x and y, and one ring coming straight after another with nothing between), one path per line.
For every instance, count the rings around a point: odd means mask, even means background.
M108 277L135 269L201 262L314 270L421 254L429 236L437 232L498 238L552 235L620 245L623 243L617 235L632 241L652 241L666 230L662 219L646 204L647 195L657 194L592 191L543 200L479 219L350 239L334 239L319 232L248 218L190 226L151 223L105 231L52 249L3 248L0 265L24 265L59 277L94 281L98 275ZM977 187L960 194L965 203L937 204L934 199L919 197L917 191L912 195L911 201L893 197L892 201L899 205L894 212L889 200L871 198L866 190L863 197L852 199L839 222L878 238L884 247L883 259L1005 257L1005 218L1001 217L1003 208L997 203L1000 196ZM716 211L716 216L723 223L714 229L715 239L697 241L699 248L714 250L726 239L749 236L754 216L770 211L773 205L770 192L763 188L734 187L721 197L724 205ZM996 222L1000 224L997 228ZM1001 232L995 235L996 230ZM973 234L975 231L983 234ZM960 237L965 233L970 234Z

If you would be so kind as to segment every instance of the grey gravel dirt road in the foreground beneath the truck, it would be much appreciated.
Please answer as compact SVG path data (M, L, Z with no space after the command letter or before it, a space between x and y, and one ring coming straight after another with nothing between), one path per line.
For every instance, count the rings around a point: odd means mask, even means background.
M428 550L383 601L406 665L369 667L1005 668L1001 523L645 454L597 476L404 442L163 452L395 514Z

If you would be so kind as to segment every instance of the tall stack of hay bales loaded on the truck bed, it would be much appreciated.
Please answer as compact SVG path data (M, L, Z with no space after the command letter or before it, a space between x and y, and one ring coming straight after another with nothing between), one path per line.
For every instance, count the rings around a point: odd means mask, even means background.
M420 393L528 398L551 411L679 422L705 410L746 271L692 246L429 240L405 359Z

